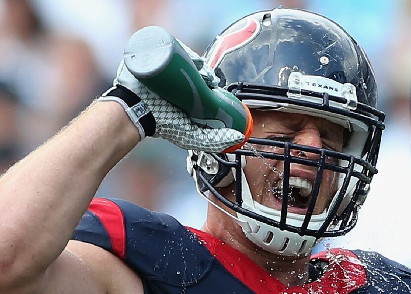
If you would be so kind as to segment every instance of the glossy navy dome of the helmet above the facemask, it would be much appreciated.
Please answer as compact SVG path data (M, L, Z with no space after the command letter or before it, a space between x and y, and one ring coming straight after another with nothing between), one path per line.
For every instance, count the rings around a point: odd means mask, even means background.
M298 71L350 83L359 102L375 107L377 86L365 52L341 26L312 12L250 14L222 31L204 57L220 87L244 82L287 88L290 73ZM317 86L321 92L323 85Z

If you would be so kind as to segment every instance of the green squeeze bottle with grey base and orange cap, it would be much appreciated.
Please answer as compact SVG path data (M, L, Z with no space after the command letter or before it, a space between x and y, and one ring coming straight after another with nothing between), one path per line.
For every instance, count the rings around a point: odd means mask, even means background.
M210 89L189 54L162 27L134 33L124 50L124 63L142 84L197 125L232 128L250 137L253 119L247 106L228 91Z

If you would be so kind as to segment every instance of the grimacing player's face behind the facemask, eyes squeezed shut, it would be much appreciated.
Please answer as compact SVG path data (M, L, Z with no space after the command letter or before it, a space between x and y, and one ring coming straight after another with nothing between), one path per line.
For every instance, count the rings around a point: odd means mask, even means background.
M254 130L252 137L275 139L283 142L306 145L309 147L327 148L341 151L343 147L344 128L323 118L285 113L280 111L252 110ZM283 154L278 147L254 145L257 150ZM291 150L291 155L307 159L318 159L318 154ZM335 159L328 163L338 164ZM284 161L248 157L245 174L253 198L264 206L281 210L282 172ZM311 192L317 175L316 166L297 163L290 165L290 193L288 211L306 214ZM324 170L314 213L319 214L330 204L337 191L338 174Z

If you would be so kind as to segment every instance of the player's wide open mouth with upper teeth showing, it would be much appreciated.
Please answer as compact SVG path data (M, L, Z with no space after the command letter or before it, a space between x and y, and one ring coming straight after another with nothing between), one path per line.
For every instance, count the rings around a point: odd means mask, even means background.
M273 195L280 203L283 200L283 185L283 180L279 180L272 187ZM301 177L290 177L289 187L288 207L307 209L311 198L312 184L307 179Z

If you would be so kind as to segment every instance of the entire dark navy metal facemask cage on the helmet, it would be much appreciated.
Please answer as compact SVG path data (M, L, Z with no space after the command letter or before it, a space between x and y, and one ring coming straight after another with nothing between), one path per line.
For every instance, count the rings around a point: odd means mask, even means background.
M213 186L210 181L207 180L206 174L203 170L198 169L197 177L198 182L204 185L205 190L209 190L214 196L217 197L224 205L230 207L232 210L244 214L248 217L251 217L257 221L261 221L268 225L278 227L281 230L288 230L290 232L295 232L300 235L308 235L313 236L316 238L322 237L334 237L334 236L341 236L350 231L357 222L357 215L358 209L360 207L359 197L365 198L366 194L368 193L369 183L377 170L375 169L375 163L378 157L378 150L381 141L381 134L382 130L385 128L383 123L385 114L371 106L358 102L356 109L344 110L341 108L330 106L329 101L336 101L338 103L347 103L348 101L345 98L341 97L334 97L327 93L315 93L315 92L307 92L305 93L302 90L302 94L306 96L313 96L322 98L322 103L315 103L301 99L295 99L287 97L288 89L280 88L280 87L267 87L261 86L256 84L250 83L235 83L228 86L228 91L232 91L237 98L240 99L258 99L258 100L267 100L267 101L274 101L279 103L288 103L294 105L300 105L304 107L310 107L319 110L325 110L329 112L338 113L341 115L345 115L350 118L358 119L364 123L366 123L370 130L368 135L367 143L365 144L363 154L366 154L365 159L355 157L352 155L347 155L342 152L336 152L332 150L327 150L325 148L314 148L308 147L303 145L297 145L292 143L284 143L279 141L273 141L268 139L260 139L260 138L250 138L249 143L251 144L258 144L258 145L267 145L267 146L274 146L280 147L284 149L284 154L277 154L272 152L264 152L260 151L259 153L267 159L275 159L275 160L284 160L284 183L283 183L283 202L281 208L281 219L280 221L275 221L273 219L261 216L249 209L242 207L242 182L241 182L241 174L242 174L242 166L241 166L241 156L256 156L253 152L246 149L239 149L236 150L234 153L236 154L236 159L234 162L224 160L216 154L213 154L215 159L219 162L219 164L230 166L235 170L235 202L232 202L222 196ZM305 159L300 157L292 156L290 151L292 149L306 151L310 153L315 153L319 155L318 160L312 159ZM339 165L334 165L326 162L326 157L333 157L338 160L344 160L348 162L347 167L342 167ZM218 158L218 159L217 159ZM287 202L288 202L288 192L289 192L289 176L290 176L290 164L297 163L303 164L308 166L316 166L317 167L317 176L315 179L314 187L311 192L312 196L308 203L308 212L304 217L304 221L301 227L294 227L288 225L287 221ZM355 166L360 166L362 168L361 171L355 170ZM337 196L334 197L333 202L329 206L329 210L326 216L325 221L323 222L322 226L318 230L310 230L308 229L309 222L312 217L313 209L315 207L315 203L318 197L319 188L321 184L321 176L324 170L331 170L334 172L338 172L345 175L343 183L341 187L339 187L339 193ZM347 207L345 207L344 211L337 215L337 211L340 208L340 205L346 196L347 188L350 183L351 178L357 178L358 182L353 193L353 197L350 200ZM332 227L332 230L329 228ZM337 228L337 229L336 229ZM328 229L328 230L327 230Z

